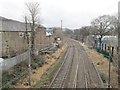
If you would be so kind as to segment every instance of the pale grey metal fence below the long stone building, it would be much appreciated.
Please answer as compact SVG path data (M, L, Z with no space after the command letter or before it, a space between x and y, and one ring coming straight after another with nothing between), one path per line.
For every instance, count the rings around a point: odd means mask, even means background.
M30 52L26 51L15 57L4 59L2 62L2 71L7 71L8 69L12 68L13 66L19 64L20 62L28 60L29 56L30 56Z

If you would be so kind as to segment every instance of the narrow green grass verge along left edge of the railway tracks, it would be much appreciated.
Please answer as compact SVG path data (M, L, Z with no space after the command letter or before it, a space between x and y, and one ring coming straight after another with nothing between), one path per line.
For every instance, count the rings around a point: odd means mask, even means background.
M41 79L37 82L37 84L32 86L31 88L46 88L49 86L55 75L55 72L58 70L58 68L63 62L63 57L66 51L67 49L65 49L64 52L61 53L61 55L57 58L56 62L52 64L51 67L42 75Z

